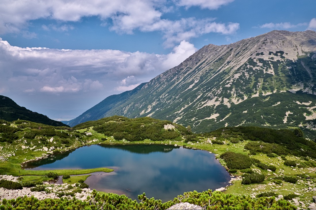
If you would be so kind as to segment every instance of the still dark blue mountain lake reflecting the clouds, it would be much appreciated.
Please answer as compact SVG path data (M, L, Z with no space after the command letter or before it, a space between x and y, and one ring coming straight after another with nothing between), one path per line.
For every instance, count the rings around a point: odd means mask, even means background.
M207 151L173 145L90 145L28 163L24 169L89 169L107 167L113 172L93 173L89 188L137 199L146 193L163 202L186 191L225 187L229 173Z

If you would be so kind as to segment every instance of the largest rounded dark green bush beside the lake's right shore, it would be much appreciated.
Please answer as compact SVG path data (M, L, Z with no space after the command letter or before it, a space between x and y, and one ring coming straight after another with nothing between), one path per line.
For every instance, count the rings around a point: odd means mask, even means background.
M224 159L229 169L246 169L252 165L249 156L240 153L226 152L220 158Z

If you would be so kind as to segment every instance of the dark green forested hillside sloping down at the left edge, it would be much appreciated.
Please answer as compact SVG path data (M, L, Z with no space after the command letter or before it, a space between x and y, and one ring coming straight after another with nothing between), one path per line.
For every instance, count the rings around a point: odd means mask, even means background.
M59 121L49 119L46 115L19 106L12 99L3 95L0 95L0 119L9 122L20 119L52 126L68 126Z

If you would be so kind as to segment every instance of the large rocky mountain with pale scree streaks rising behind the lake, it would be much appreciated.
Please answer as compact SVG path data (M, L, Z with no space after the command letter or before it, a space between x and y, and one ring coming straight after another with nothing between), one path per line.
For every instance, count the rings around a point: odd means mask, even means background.
M238 125L315 129L315 53L314 31L271 31L230 45L206 45L68 124L122 115L170 120L197 132Z

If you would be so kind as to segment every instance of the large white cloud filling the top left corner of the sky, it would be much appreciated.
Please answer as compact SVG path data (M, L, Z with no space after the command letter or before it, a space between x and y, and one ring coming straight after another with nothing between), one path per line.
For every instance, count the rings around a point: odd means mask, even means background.
M49 18L59 21L80 21L82 17L111 18L113 30L131 32L143 24L160 18L155 1L138 0L2 0L0 1L0 31L19 32L28 21Z

